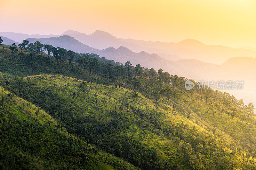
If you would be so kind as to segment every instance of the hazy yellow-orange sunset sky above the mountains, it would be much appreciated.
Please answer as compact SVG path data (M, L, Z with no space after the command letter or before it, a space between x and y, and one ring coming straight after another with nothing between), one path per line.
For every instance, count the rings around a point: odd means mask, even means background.
M109 32L117 38L256 47L255 0L0 0L0 32Z

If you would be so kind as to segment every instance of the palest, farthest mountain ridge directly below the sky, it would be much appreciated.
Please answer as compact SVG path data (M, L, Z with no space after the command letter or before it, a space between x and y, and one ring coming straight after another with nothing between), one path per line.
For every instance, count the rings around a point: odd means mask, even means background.
M231 48L221 45L205 45L195 39L185 39L183 41L160 42L144 41L136 39L121 39L104 31L95 31L92 34L68 30L61 35L28 35L14 32L0 32L0 36L21 42L27 38L50 38L69 35L79 42L95 49L104 50L108 47L119 48L124 46L135 53L145 51L147 53L156 53L166 60L196 59L204 62L221 64L231 57L256 57L256 50L252 47Z

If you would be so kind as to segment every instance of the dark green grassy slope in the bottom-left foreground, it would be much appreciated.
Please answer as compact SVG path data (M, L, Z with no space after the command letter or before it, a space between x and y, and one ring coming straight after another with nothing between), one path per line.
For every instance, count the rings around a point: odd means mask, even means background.
M0 87L1 169L136 169L71 136L44 110ZM38 114L36 114L38 111Z

